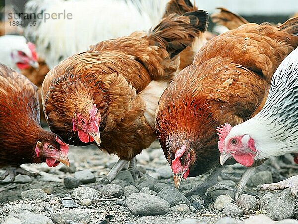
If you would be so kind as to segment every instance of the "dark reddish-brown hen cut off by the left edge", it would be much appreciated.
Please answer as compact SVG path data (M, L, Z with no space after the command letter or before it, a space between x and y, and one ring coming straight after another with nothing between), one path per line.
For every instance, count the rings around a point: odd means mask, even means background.
M46 162L49 167L60 162L69 166L68 145L61 138L40 127L37 88L24 75L0 63L0 168L10 174L32 175L19 166Z

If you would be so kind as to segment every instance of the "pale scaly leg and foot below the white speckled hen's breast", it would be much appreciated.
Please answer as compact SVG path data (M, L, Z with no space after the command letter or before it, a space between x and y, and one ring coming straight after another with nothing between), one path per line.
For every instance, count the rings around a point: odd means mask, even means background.
M210 193L215 190L230 190L234 192L235 199L239 198L239 196L242 194L244 187L246 186L247 181L251 177L251 175L254 173L257 167L249 167L245 170L243 175L241 176L239 182L236 184L235 188L232 188L230 186L224 185L224 184L216 184L214 186L209 187L205 192L205 198L210 197Z

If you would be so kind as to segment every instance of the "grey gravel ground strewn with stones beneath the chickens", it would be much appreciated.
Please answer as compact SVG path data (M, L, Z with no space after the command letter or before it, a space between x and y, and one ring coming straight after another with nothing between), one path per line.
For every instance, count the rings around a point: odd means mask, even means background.
M257 184L281 180L280 174L284 177L298 174L295 169L277 171L262 165L238 200L231 199L228 195L232 192L225 190L213 192L212 199L204 200L204 192L186 198L174 188L170 166L158 142L138 155L138 168L145 175L137 183L133 183L129 172L122 171L112 184L104 184L102 177L118 158L96 147L71 146L69 158L70 169L63 165L49 168L46 164L24 164L22 167L40 176L19 175L14 183L2 182L0 222L99 224L106 215L113 215L110 224L270 224L272 219L298 224L297 202L289 189L274 194L255 190ZM228 173L236 176L244 169L235 165L224 172L218 180L233 186L236 177ZM179 190L189 189L206 176L182 181ZM284 220L287 218L292 219Z

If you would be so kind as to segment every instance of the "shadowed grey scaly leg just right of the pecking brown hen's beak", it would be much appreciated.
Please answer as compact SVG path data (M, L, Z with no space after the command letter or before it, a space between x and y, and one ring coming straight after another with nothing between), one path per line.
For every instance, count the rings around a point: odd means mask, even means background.
M214 170L210 173L210 175L202 182L197 183L195 186L193 186L191 189L183 191L182 194L185 196L192 195L194 192L198 190L205 190L210 185L214 185L217 183L217 177L222 172L223 167L216 167Z

